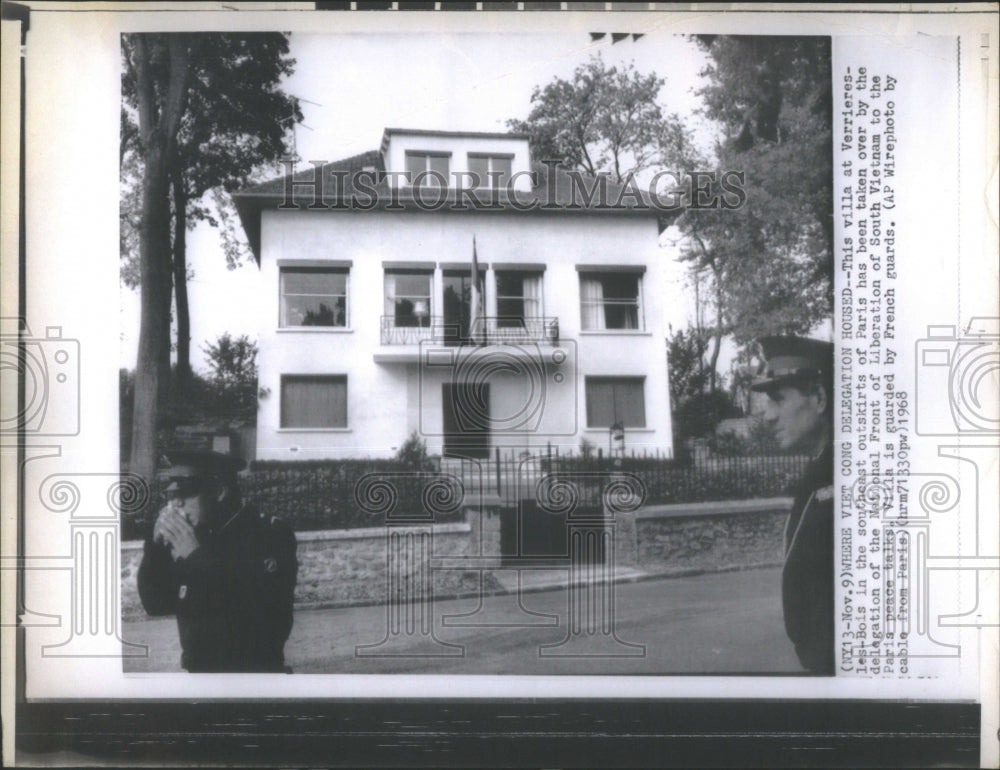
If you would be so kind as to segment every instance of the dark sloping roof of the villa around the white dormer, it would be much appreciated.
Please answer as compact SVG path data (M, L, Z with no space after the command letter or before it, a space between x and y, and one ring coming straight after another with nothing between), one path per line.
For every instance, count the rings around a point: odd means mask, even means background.
M386 133L390 131L419 133L405 129L386 129ZM468 132L428 133L438 136L493 136ZM509 138L515 135L497 136ZM680 211L665 211L662 206L653 205L649 194L634 184L626 188L610 179L567 171L552 163L534 162L531 170L535 174L533 181L537 181L537 184L530 191L515 190L508 193L505 190L480 189L463 190L459 195L455 188L451 188L443 196L436 190L427 190L415 196L410 187L390 187L382 153L369 150L253 185L234 193L233 201L258 263L260 215L264 210L485 211L519 214L585 212L602 216L657 217L661 231L666 226L665 219L669 220L680 214ZM367 173L363 173L366 171ZM319 185L314 183L317 174ZM604 186L603 195L595 191L595 188L600 189L597 185ZM608 205L608 202L613 205Z

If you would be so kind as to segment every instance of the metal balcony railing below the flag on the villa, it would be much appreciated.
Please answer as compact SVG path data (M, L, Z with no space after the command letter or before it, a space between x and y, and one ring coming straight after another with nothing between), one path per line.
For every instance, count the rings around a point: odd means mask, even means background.
M420 325L416 325L420 324ZM487 317L472 321L468 329L445 323L443 317L426 316L414 325L397 325L396 317L382 316L383 345L523 345L559 343L559 319Z

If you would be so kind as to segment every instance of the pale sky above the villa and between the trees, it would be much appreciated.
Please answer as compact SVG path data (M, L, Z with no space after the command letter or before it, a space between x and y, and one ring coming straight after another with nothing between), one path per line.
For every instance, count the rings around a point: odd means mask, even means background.
M332 161L377 149L386 127L505 131L506 121L526 118L531 92L555 77L569 78L592 55L608 64L634 63L643 73L666 79L660 92L664 111L677 112L711 146L696 114L694 90L706 59L697 46L677 35L648 34L612 44L586 33L445 33L433 35L294 34L296 59L286 90L302 100L303 124L296 150L303 161ZM664 257L668 256L664 249ZM252 259L227 270L219 234L199 225L188 235L191 358L206 372L206 342L224 332L256 339L256 313L263 287ZM678 270L678 292L682 291ZM121 292L120 365L133 368L139 332L137 291ZM685 326L691 309L674 305L670 319Z

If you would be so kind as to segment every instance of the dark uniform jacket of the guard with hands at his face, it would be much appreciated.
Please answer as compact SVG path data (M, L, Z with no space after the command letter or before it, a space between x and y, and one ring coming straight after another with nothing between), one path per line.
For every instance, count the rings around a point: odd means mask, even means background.
M246 506L176 563L166 546L147 540L139 598L150 615L177 615L188 671L281 672L295 550L291 527Z

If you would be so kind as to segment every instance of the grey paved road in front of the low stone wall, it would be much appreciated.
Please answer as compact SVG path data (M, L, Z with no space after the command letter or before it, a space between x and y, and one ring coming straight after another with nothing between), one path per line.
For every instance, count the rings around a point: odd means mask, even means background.
M300 673L801 672L779 586L776 568L619 584L614 612L596 614L613 614L613 635L571 634L565 588L525 593L520 604L516 595L485 597L474 618L455 616L476 613L476 598L437 601L433 636L396 634L397 647L368 647L365 656L355 654L358 645L387 637L384 606L303 610L285 654ZM180 670L174 618L125 623L123 636L149 647L149 657L127 659L127 671Z

